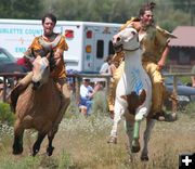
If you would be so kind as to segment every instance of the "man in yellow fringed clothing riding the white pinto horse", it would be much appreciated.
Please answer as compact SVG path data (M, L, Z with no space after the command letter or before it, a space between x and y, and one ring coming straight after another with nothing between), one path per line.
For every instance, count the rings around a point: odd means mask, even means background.
M142 64L146 73L148 74L152 86L153 86L153 96L152 96L152 118L157 120L168 120L170 119L170 115L167 115L162 110L162 103L166 96L166 89L164 86L164 79L160 70L162 69L167 54L169 51L168 42L169 38L176 38L172 34L168 32L167 30L161 29L160 27L155 25L153 18L153 9L155 6L154 2L147 3L140 9L139 17L131 18L128 21L121 29L125 29L128 26L135 28L139 32L139 40L141 43L141 48L143 50L142 53ZM121 58L121 53L116 53L116 60ZM114 88L112 88L110 93L113 90L116 90L116 84L122 74L123 69L123 62L118 67L116 74L117 78L114 78L115 81L113 82ZM114 75L115 77L115 75ZM113 87L112 86L112 87ZM109 98L114 98L115 95L109 94ZM110 102L108 102L109 104ZM113 104L114 105L114 104ZM112 107L112 104L109 104ZM109 109L113 110L113 109Z

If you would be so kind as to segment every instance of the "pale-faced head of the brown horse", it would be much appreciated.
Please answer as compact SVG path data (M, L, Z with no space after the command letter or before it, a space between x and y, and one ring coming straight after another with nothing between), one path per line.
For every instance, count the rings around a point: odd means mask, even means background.
M44 56L37 56L32 63L32 89L38 89L47 83L50 77L50 63L48 61L50 53Z

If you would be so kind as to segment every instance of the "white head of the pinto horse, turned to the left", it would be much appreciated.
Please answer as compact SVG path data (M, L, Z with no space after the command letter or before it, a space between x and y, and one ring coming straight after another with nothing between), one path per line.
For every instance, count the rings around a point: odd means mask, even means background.
M140 48L138 31L132 27L120 30L113 37L113 46L116 52L134 51Z

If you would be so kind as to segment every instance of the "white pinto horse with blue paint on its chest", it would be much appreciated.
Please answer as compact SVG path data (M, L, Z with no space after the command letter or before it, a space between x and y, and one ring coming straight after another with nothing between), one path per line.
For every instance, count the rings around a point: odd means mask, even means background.
M125 116L130 154L138 153L141 148L140 125L146 118L141 159L148 160L147 143L155 125L155 120L147 117L152 105L152 83L142 67L142 51L136 30L132 27L125 28L114 36L113 44L116 52L125 52L125 69L116 89L115 116L108 143L117 142L117 126Z

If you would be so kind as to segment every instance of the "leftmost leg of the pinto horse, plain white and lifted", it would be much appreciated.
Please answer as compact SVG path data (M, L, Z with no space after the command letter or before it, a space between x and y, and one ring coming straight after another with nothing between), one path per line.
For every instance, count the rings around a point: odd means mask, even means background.
M117 143L117 128L123 114L125 114L125 108L118 102L115 102L115 114L114 114L114 119L113 119L113 127L112 127L110 135L107 143L114 143L114 144Z

